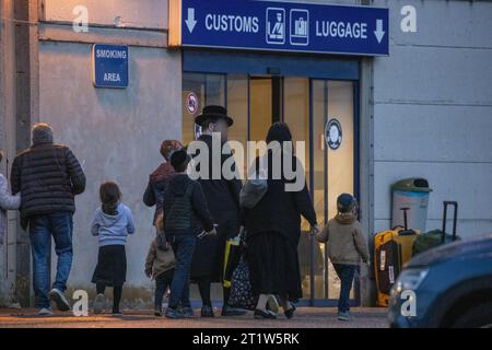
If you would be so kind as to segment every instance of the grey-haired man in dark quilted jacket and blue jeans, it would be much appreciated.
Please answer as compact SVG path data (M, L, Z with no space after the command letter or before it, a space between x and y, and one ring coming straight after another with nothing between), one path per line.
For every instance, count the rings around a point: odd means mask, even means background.
M74 196L85 189L85 175L66 145L52 142L47 124L36 124L33 145L19 154L12 165L12 192L21 192L21 225L30 230L33 255L33 285L39 315L50 315L50 300L60 311L70 310L65 296L72 265L72 217ZM51 290L51 236L58 256Z

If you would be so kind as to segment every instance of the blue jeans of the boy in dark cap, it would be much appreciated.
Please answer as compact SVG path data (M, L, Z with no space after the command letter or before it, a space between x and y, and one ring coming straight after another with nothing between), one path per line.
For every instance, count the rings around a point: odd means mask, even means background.
M171 283L169 307L177 308L179 302L183 307L189 307L191 305L189 301L189 276L197 236L183 234L169 238L176 256L176 268Z

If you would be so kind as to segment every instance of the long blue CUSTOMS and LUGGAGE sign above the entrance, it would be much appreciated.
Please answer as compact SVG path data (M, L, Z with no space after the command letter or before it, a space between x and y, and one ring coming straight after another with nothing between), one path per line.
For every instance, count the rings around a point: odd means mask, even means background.
M389 55L388 9L253 0L169 0L169 46Z

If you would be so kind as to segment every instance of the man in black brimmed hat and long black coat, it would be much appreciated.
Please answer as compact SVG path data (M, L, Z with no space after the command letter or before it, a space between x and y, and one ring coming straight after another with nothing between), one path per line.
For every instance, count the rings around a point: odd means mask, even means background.
M234 120L227 116L227 110L222 106L206 106L202 114L195 122L201 127L201 136L198 141L206 143L209 151L208 176L198 178L203 188L210 212L218 224L216 236L208 236L199 241L194 256L191 269L192 280L198 281L198 288L202 299L202 317L213 317L213 308L210 299L210 288L212 282L223 283L223 264L225 242L234 237L239 232L239 192L243 186L239 178L226 179L222 174L222 165L230 156L222 154L222 148L227 142L227 129ZM213 142L214 137L220 137L220 142ZM220 149L218 149L220 148ZM212 158L214 152L220 152L220 170L213 170ZM198 155L199 153L197 152ZM219 164L216 164L219 165ZM199 165L197 166L197 170ZM232 162L231 171L235 172L235 163ZM203 170L200 170L203 174ZM219 178L213 175L220 174ZM229 288L223 288L222 316L244 315L245 311L229 306Z

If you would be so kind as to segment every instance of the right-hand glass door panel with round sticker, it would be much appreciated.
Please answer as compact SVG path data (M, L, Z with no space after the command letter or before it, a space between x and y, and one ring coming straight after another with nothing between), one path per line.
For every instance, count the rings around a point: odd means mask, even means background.
M356 175L356 85L352 81L312 80L313 127L312 188L318 222L325 225L337 214L337 197L342 192L359 197ZM327 246L313 242L318 258L313 264L315 299L336 300L340 280L327 256ZM352 289L359 300L359 283Z

